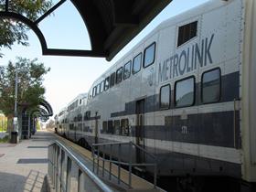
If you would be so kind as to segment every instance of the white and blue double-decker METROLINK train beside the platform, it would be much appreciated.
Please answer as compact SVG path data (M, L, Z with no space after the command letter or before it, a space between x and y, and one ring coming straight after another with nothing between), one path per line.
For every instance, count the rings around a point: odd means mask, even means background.
M256 191L255 99L256 3L211 0L155 27L59 113L58 131L89 148L132 141L158 176L228 176Z

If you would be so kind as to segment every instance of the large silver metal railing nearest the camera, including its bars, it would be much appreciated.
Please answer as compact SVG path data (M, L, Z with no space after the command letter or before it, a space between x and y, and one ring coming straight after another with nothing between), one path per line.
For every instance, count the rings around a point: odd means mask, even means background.
M48 176L57 192L112 191L59 141L48 146Z

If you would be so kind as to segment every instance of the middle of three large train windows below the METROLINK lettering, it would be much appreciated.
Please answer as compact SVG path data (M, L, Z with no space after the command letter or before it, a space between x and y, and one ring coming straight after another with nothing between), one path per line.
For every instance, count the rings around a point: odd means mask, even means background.
M175 86L176 107L191 106L195 101L195 78L176 81Z

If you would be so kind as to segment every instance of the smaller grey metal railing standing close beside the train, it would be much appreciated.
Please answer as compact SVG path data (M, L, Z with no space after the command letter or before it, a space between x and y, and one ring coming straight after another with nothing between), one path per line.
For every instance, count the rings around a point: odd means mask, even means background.
M150 157L152 157L155 160L154 164L137 164L137 163L132 163L132 159L130 157L129 162L123 162L121 161L121 145L124 144L129 144L129 151L130 153L132 152L132 146L135 146L136 148L140 149L141 151L144 152L145 155L149 155ZM105 147L106 145L110 145L111 146L111 154L110 154L110 159L106 159L105 158L105 154L103 153L102 157L100 156L100 147L103 146ZM112 146L113 145L118 145L118 161L112 160ZM97 152L96 149L97 148ZM118 184L120 184L121 178L120 178L120 172L121 172L121 167L120 165L129 165L129 181L128 184L126 184L124 181L123 183L128 185L128 187L132 188L132 167L133 166L154 166L154 188L156 187L156 176L157 176L157 164L156 164L156 157L155 155L150 154L149 152L147 152L143 147L137 145L137 144L133 144L133 142L116 142L116 143L104 143L104 144L92 144L92 148L91 148L91 155L93 157L93 166L92 166L92 171L94 172L95 170L95 152L97 153L97 174L99 174L99 162L100 160L102 161L102 176L104 176L104 164L105 162L109 162L110 163L110 167L109 167L109 179L111 180L112 178L112 163L113 164L117 164L118 165Z

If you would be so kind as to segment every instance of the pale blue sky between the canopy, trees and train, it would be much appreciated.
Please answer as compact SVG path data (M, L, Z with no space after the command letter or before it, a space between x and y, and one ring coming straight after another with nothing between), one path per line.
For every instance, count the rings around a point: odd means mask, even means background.
M59 2L59 0L53 1ZM42 56L39 40L30 30L27 33L29 46L14 45L12 49L2 48L1 53L5 56L0 58L0 65L6 65L9 60L15 61L16 57L23 57L37 58L39 62L43 62L46 67L50 68L48 74L44 76L45 99L52 106L54 114L57 114L78 94L89 91L94 80L161 22L207 1L173 0L110 62L99 58ZM79 12L69 0L61 5L53 15L40 22L39 28L46 38L48 48L91 49L87 29Z

